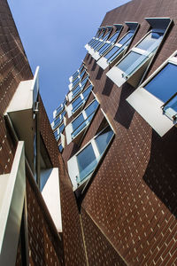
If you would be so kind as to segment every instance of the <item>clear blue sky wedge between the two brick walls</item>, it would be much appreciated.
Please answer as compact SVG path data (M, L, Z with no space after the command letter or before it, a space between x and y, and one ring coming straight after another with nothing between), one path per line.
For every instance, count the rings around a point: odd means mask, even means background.
M40 91L52 113L68 92L68 78L85 58L84 45L106 12L128 0L8 0L33 73L40 66Z

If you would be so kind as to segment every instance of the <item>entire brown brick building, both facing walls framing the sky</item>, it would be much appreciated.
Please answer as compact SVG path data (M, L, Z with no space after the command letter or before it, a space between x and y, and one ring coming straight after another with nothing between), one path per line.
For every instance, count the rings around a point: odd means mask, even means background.
M176 265L175 1L106 13L54 134L0 7L0 264Z

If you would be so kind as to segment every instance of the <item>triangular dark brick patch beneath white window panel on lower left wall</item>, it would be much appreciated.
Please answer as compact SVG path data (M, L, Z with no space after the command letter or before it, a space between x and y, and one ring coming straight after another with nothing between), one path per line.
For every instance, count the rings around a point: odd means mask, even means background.
M42 206L27 181L27 223L30 265L63 265L61 245L57 241Z

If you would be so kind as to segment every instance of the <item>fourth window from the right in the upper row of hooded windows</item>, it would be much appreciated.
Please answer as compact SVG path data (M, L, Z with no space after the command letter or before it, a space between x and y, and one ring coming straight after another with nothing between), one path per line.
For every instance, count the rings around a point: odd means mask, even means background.
M104 42L104 44L92 54L92 57L94 59L96 60L100 59L100 57L103 56L104 53L109 51L112 48L112 46L116 43L116 40L118 39L123 26L121 24L114 24L114 26L117 28L116 32L109 38L109 40Z

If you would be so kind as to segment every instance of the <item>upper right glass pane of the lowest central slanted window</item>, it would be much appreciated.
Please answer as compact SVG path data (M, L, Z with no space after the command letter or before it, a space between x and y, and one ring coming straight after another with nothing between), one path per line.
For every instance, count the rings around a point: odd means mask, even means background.
M104 131L102 131L102 133L99 136L95 138L96 146L98 148L100 155L104 153L112 136L113 136L112 129L110 127L107 127L106 129L104 129Z

